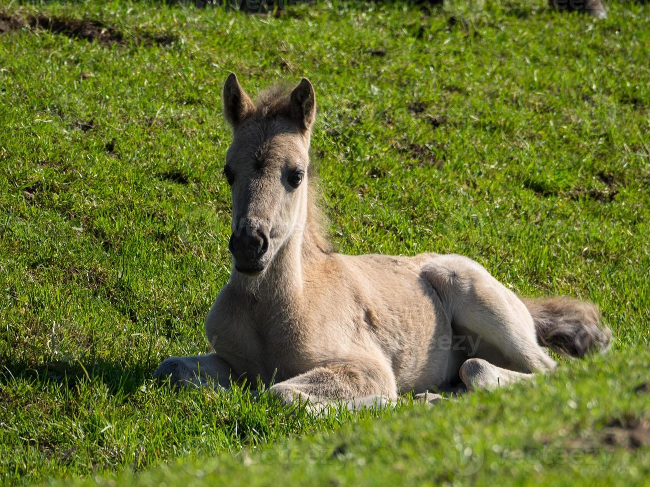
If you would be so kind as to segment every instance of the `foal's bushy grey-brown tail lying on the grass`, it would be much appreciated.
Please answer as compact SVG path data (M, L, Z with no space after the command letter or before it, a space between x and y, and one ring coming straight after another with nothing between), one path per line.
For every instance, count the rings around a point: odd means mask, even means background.
M601 327L601 312L593 303L567 297L522 301L535 322L540 345L560 355L577 357L608 349L612 331Z

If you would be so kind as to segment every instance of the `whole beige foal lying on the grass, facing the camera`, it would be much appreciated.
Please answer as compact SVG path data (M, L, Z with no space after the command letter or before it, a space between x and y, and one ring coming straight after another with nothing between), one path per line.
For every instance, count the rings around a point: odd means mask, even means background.
M155 377L227 388L259 376L287 403L354 407L525 379L555 368L542 346L606 348L595 305L522 300L467 257L333 253L307 181L315 111L307 79L253 105L229 75L233 268L205 319L215 353L168 358Z

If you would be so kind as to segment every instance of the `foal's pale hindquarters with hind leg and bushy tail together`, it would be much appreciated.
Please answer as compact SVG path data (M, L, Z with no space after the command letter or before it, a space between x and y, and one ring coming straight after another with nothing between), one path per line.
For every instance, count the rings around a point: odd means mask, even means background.
M591 303L567 298L524 301L471 258L426 258L422 275L439 295L452 329L481 342L468 359L486 358L532 373L556 366L541 347L581 357L609 343L611 332L600 327L600 314Z

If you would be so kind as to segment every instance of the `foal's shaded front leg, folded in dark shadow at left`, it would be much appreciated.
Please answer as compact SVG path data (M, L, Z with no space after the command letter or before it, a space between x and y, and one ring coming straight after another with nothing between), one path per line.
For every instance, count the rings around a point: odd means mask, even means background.
M156 379L169 378L170 386L230 387L230 365L216 353L196 356L173 356L163 360L153 373ZM234 379L234 378L233 378Z

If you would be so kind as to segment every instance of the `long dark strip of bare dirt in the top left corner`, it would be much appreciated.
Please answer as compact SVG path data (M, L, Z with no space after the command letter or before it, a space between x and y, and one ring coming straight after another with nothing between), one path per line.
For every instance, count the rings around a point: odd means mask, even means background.
M95 19L73 19L67 17L51 17L45 14L23 16L21 14L0 13L0 34L31 29L32 31L51 31L72 39L83 39L89 42L97 41L103 45L170 45L177 37L168 32L140 32L138 35L125 34L115 27Z

